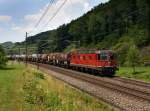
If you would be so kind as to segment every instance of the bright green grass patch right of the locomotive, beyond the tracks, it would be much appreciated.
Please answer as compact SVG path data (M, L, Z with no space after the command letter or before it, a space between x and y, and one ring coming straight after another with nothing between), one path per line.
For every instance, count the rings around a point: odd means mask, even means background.
M135 71L133 73L132 67L120 67L117 75L150 82L150 67L136 67Z

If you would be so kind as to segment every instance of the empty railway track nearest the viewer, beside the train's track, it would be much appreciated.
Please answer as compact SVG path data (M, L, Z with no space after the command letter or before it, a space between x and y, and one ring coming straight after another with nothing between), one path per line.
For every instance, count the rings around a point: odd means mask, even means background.
M64 74L64 75L67 75L76 79L80 79L82 81L86 81L91 84L95 84L97 86L103 86L105 88L109 88L114 91L119 91L121 93L125 93L127 95L131 95L139 99L147 100L150 102L150 92L147 93L142 90L131 89L129 87L125 87L125 86L118 85L112 82L108 82L99 78L95 78L94 76L87 75L87 74L85 75L83 73L76 72L76 71L66 70L66 69L58 68L54 66L50 66L50 67L46 67L46 65L42 65L42 66L45 68L49 68L50 70L56 71L58 73L61 73L61 74Z

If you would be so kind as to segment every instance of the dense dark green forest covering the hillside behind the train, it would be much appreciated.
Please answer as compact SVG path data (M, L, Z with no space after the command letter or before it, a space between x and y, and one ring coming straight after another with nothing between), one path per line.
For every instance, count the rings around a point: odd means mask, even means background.
M39 53L75 48L111 49L118 53L120 65L128 64L128 52L134 46L139 52L139 63L147 64L150 61L150 2L110 0L56 30L29 37L27 43L38 47ZM24 44L16 43L15 48Z

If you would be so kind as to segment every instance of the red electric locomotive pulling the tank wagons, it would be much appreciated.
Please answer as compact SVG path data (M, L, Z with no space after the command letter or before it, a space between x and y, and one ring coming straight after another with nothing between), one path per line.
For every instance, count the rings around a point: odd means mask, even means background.
M70 66L108 75L114 75L118 69L116 54L110 50L73 52L70 56Z

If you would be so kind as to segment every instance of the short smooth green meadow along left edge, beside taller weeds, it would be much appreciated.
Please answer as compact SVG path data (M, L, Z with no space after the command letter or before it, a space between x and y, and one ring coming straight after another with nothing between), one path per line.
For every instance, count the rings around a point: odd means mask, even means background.
M0 111L15 111L21 103L20 77L24 67L15 64L0 69Z

